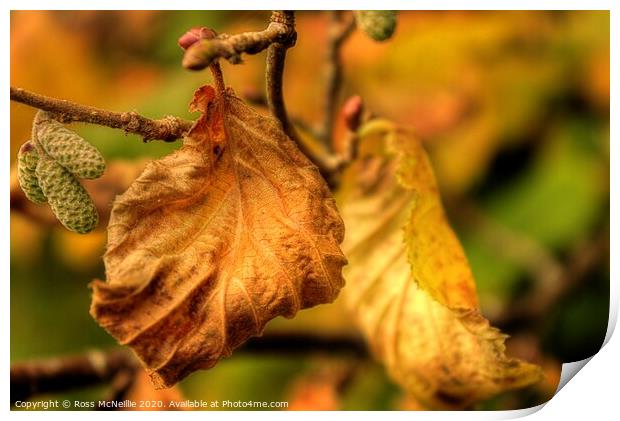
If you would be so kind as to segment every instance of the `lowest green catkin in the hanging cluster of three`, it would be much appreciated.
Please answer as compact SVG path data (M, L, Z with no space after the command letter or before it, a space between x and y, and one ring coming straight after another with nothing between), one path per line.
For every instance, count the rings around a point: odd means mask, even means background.
M99 222L97 208L80 182L53 159L41 157L36 176L56 218L71 231L85 234Z

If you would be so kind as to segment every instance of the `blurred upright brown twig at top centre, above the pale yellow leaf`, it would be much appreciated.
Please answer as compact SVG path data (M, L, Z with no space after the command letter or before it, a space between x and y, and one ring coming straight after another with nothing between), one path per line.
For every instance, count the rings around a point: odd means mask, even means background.
M323 124L319 131L320 139L329 152L333 152L332 136L338 107L338 97L342 87L342 45L355 29L355 19L350 15L343 20L342 11L331 11L325 67L325 95Z

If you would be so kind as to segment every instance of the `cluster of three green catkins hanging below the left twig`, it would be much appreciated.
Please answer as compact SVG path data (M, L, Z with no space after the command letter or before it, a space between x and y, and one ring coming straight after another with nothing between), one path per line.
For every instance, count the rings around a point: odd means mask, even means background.
M48 202L69 230L84 234L99 222L97 208L78 178L98 178L105 170L101 153L47 113L35 117L32 140L17 155L19 184L34 203Z

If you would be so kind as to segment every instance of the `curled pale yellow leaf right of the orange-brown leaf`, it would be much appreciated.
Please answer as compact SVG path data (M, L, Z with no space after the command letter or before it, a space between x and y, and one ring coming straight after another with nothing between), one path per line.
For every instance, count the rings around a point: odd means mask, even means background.
M480 314L463 249L420 143L389 122L360 131L337 196L347 226L346 297L391 377L432 408L462 408L537 382Z

